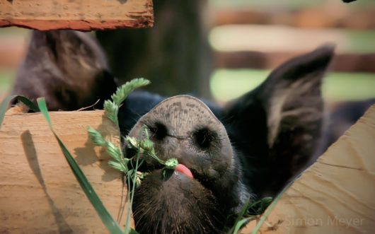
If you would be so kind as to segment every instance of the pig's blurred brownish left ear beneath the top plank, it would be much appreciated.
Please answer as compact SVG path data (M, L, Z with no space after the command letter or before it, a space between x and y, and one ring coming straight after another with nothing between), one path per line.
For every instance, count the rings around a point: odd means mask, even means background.
M77 110L116 90L103 49L89 34L72 30L33 31L18 68L14 94L45 97L49 110Z

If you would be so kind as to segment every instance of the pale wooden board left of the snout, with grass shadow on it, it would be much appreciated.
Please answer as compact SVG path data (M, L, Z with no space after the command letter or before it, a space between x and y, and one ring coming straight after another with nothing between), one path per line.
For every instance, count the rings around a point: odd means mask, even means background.
M86 127L117 140L103 111L50 112L103 204L125 224L126 188L109 156L88 140ZM125 208L125 209L124 209ZM0 233L108 233L74 177L42 114L8 110L0 130Z

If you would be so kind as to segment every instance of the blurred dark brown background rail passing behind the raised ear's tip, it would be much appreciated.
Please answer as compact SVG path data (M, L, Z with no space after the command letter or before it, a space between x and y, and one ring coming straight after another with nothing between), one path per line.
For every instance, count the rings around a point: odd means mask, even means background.
M21 37L0 38L0 68L14 69L25 56L26 43ZM214 67L226 69L274 69L301 52L234 51L214 52ZM335 55L333 71L375 73L375 54L342 53Z

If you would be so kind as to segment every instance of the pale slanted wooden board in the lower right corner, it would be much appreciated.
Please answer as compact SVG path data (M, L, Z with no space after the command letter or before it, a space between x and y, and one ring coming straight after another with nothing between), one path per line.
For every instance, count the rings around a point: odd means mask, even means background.
M260 233L375 233L374 143L375 105L282 194Z

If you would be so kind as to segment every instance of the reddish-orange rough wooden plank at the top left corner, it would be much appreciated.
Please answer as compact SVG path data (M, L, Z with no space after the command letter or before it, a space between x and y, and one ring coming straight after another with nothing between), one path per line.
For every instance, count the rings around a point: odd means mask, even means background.
M0 0L0 27L88 31L153 23L151 0Z

